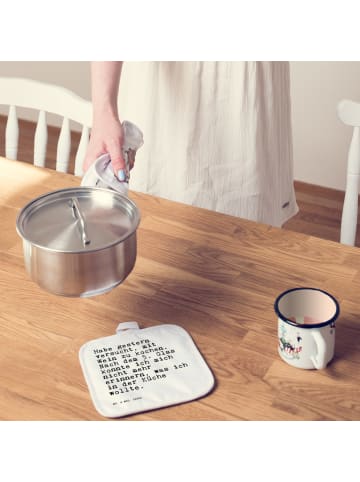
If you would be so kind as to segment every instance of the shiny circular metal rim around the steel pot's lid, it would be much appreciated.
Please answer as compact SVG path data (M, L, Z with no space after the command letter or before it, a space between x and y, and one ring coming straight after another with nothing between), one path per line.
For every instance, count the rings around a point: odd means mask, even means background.
M21 226L21 220L24 217L24 214L26 213L26 211L28 211L30 209L32 204L34 204L35 202L38 202L42 198L45 198L45 197L47 197L49 195L52 195L52 194L78 191L79 189L89 190L89 191L103 191L103 192L109 192L110 191L114 196L121 197L121 198L125 199L126 202L129 203L132 206L132 208L134 208L134 212L136 213L133 230L131 232L129 232L128 234L124 235L123 237L120 237L116 241L113 241L112 243L109 243L109 244L106 244L104 246L100 246L100 247L97 247L97 248L94 248L94 249L87 249L86 251L82 251L80 249L79 250L73 250L73 251L65 251L65 250L62 250L62 249L50 248L50 247L44 246L40 243L36 243L34 241L31 241L28 237L25 236L24 231L23 231L22 226ZM42 250L45 250L45 251L53 252L53 253L61 253L61 254L69 254L69 255L71 255L71 254L83 254L83 255L85 255L85 254L95 253L97 251L103 251L104 249L111 248L113 246L116 246L116 245L126 241L128 238L130 238L131 236L136 234L137 228L139 227L139 224L140 224L140 220L141 220L141 215L140 215L140 211L139 211L139 208L136 205L136 203L134 201L132 201L131 199L129 199L127 196L124 196L123 194L121 194L120 192L114 191L112 189L105 189L105 188L100 188L100 187L79 186L79 187L69 187L69 188L57 189L55 191L49 191L49 192L46 192L44 194L41 194L40 196L32 199L31 201L29 201L27 204L25 204L25 206L23 206L21 208L20 212L18 213L18 215L16 217L16 231L17 231L18 235L22 238L23 241L26 241L26 242L30 243L31 246L33 246L33 247L36 247L36 248L39 248L39 249L42 249Z

